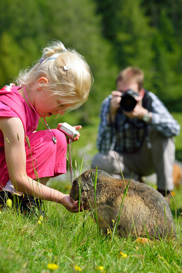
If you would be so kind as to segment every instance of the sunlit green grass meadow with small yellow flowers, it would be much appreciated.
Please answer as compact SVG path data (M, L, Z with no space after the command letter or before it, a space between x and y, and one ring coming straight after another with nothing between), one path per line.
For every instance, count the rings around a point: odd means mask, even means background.
M182 115L175 113L174 117L182 126ZM98 123L95 119L83 127L82 138L72 145L72 160L77 160L78 175L83 152L82 171L89 169L92 156L97 152ZM176 137L176 147L180 159L181 135ZM69 176L58 179L51 180L49 185L68 193ZM0 213L0 272L182 272L181 197L182 186L174 189L170 205L177 241L154 240L144 245L138 245L134 236L119 238L112 233L98 234L90 212L78 215L53 202L44 201L46 216L43 219L23 216L12 207L7 208Z

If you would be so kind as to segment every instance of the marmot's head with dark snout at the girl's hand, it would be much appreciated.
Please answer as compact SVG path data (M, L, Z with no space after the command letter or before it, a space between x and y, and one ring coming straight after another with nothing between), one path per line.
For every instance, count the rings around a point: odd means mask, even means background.
M95 170L92 170L93 175L95 174ZM95 176L95 175L94 175ZM91 171L85 171L84 173L81 174L80 176L80 182L79 182L79 177L74 179L71 190L70 190L70 197L73 200L79 200L79 187L81 189L81 201L83 203L88 203L87 202L87 194L88 191L94 190L94 183L92 179L92 174Z

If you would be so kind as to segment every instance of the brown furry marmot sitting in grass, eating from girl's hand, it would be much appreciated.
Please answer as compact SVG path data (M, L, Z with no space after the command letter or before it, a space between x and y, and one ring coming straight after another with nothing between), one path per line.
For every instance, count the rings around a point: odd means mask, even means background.
M95 179L96 170L92 170ZM102 170L97 171L96 207L99 229L107 232L116 223L129 180L116 179ZM126 185L126 186L125 186ZM81 202L95 211L94 183L91 171L85 171L80 177ZM79 178L73 181L70 197L79 200ZM90 204L89 204L90 202ZM165 206L165 210L164 210ZM166 214L166 216L165 216ZM162 194L144 183L130 180L127 195L124 198L117 231L120 236L134 235L150 238L176 239L175 226L171 210Z

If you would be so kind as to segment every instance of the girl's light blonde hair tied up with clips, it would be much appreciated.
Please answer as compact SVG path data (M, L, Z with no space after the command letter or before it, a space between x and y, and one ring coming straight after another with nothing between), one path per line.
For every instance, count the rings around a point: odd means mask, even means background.
M50 96L57 94L61 97L68 109L76 109L87 100L93 83L91 70L83 56L74 49L65 49L60 41L48 44L32 68L20 71L17 84L33 89L40 77L48 79L48 83L41 84L41 87L51 91Z

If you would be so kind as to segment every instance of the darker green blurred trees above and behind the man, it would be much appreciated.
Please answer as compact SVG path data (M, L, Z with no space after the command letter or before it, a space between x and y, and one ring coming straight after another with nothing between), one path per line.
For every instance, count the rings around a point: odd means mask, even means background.
M118 66L143 69L145 88L156 93L170 111L180 111L182 2L95 1L97 12L102 15L103 35L115 48Z

